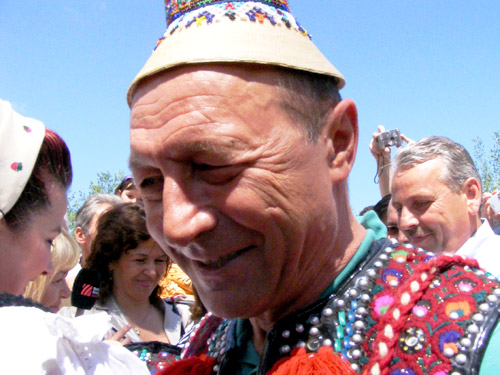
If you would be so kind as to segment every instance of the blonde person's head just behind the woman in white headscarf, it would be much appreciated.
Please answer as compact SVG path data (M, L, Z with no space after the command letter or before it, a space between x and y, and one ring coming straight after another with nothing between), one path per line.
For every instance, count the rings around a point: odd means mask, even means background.
M53 313L58 312L61 301L71 295L66 276L78 262L79 253L77 243L63 229L52 243L51 261L54 271L50 275L40 275L31 281L24 297L48 307Z

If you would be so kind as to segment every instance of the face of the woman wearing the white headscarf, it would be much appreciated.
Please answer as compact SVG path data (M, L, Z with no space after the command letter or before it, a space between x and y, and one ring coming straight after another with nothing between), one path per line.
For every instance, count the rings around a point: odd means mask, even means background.
M23 294L31 280L53 271L50 248L63 227L66 190L47 183L47 194L49 205L33 213L18 230L11 231L0 220L0 292Z

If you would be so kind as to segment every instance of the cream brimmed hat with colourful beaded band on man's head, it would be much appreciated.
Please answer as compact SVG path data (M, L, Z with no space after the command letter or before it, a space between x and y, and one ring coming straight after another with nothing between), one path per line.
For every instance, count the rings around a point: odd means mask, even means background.
M167 69L198 63L276 65L335 77L342 74L290 13L287 0L165 0L167 30L130 85Z

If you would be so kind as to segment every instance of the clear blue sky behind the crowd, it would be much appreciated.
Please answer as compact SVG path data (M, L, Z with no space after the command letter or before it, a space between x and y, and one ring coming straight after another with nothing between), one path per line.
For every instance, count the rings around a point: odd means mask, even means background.
M290 0L347 80L360 142L354 212L379 197L368 143L378 124L473 149L500 131L500 2ZM160 0L0 0L0 97L68 143L73 191L128 173L128 85L165 28Z

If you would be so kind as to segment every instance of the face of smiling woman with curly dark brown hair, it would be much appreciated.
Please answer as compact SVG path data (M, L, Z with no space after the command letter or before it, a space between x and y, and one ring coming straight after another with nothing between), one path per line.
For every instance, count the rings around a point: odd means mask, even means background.
M145 302L167 271L168 257L153 240L123 254L110 265L118 301Z

